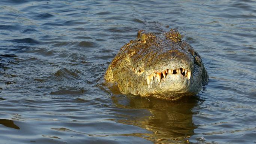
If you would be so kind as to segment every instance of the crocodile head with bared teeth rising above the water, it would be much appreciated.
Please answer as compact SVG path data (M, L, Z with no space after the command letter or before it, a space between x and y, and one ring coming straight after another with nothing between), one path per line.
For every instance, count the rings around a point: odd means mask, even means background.
M176 100L198 94L208 83L202 58L177 29L165 33L139 30L122 46L104 75L122 94Z

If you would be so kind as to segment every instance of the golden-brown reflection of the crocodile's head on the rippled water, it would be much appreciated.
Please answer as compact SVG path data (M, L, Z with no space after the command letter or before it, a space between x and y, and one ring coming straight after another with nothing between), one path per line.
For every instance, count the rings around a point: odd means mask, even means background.
M156 98L142 98L140 96L119 97L112 96L112 101L119 108L144 109L150 112L135 114L129 119L117 120L119 123L139 126L152 133L141 137L155 143L172 143L186 141L197 128L192 122L192 108L198 99L196 96L183 98L179 101L167 101ZM118 114L117 114L118 115Z

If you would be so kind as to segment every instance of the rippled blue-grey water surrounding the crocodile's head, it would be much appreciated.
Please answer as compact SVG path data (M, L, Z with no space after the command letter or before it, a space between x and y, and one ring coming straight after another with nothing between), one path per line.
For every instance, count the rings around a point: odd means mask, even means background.
M122 45L170 28L203 57L210 81L197 96L107 88ZM253 0L1 0L0 143L256 143L255 51Z

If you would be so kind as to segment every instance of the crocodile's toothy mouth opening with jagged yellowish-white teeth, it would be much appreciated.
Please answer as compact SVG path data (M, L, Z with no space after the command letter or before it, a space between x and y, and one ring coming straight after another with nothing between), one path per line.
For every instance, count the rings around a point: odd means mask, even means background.
M147 85L150 84L150 82L154 79L156 79L155 81L158 83L161 83L163 80L165 80L164 78L167 77L167 75L180 75L182 77L185 77L186 79L190 80L191 79L191 70L186 70L184 68L177 68L175 70L171 70L171 69L166 69L164 71L156 71L153 72L152 74L147 75Z

